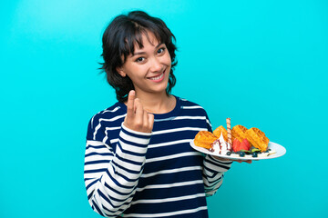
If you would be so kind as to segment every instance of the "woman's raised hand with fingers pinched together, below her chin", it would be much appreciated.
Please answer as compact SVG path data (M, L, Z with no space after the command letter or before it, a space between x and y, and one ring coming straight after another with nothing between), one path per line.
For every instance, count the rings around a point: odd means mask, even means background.
M149 114L143 109L134 90L128 93L127 116L124 119L124 125L142 133L151 133L154 125L154 114Z

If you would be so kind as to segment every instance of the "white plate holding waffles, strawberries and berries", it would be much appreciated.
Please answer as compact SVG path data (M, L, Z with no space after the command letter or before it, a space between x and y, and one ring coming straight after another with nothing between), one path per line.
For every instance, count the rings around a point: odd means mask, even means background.
M272 142L270 142L268 144L268 148L274 150L276 153L270 154L269 156L259 156L259 157L252 157L249 154L246 154L243 157L241 157L239 155L233 156L233 155L213 154L206 148L196 146L194 144L193 140L190 141L190 146L193 149L195 149L203 154L210 154L210 155L218 156L220 158L226 158L226 159L231 159L231 160L263 160L263 159L272 159L272 158L281 157L283 154L286 154L286 149L281 144L275 144Z

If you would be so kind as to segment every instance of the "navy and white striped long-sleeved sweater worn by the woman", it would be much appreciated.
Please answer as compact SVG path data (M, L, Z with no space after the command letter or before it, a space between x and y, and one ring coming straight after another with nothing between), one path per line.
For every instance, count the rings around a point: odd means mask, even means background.
M125 104L94 115L88 124L85 183L92 209L106 217L208 217L214 194L231 162L190 147L211 131L205 110L176 97L168 114L154 114L151 134L124 126Z

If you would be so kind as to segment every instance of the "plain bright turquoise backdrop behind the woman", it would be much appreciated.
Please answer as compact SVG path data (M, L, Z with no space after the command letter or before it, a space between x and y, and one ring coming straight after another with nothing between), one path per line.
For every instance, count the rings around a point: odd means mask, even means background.
M281 158L233 163L210 217L327 217L328 2L5 1L0 8L0 217L100 217L87 203L87 123L113 104L101 36L121 13L177 37L173 94L213 128L253 126Z

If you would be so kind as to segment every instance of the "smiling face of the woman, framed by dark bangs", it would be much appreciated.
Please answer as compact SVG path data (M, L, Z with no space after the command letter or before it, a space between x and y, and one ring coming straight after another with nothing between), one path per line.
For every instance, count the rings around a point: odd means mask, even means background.
M135 45L134 54L118 68L118 74L127 76L135 86L136 94L166 93L171 59L165 44L159 44L155 35L142 35L143 48Z

